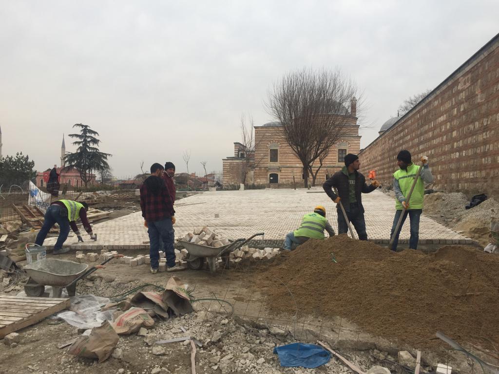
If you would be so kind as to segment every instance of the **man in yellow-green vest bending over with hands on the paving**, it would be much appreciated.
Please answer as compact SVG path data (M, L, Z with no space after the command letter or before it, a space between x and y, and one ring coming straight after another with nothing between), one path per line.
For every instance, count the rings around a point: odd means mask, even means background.
M43 221L43 226L36 235L35 244L42 245L43 241L47 237L50 228L57 223L59 225L59 237L54 245L54 254L62 254L69 252L69 248L62 248L62 244L67 239L69 234L69 227L71 227L78 237L78 241L83 241L76 221L81 219L81 223L85 228L85 231L90 235L90 238L96 240L96 235L92 232L92 227L88 223L87 219L88 205L86 202L78 202L73 200L58 200L52 202L47 211L45 212L45 218Z

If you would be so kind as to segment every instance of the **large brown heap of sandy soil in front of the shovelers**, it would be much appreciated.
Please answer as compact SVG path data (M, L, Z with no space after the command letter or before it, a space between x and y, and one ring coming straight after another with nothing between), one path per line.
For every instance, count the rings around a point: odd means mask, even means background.
M294 314L297 305L299 314L341 316L422 349L442 346L432 340L437 331L462 343L499 345L496 255L469 246L396 253L339 235L309 240L285 257L258 281L275 313Z

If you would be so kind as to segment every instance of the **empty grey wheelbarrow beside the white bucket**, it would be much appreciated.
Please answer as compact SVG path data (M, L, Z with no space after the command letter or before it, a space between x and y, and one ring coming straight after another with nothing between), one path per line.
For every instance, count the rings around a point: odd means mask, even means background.
M88 267L73 261L58 260L56 258L44 258L24 266L29 279L24 285L27 296L41 297L45 292L45 286L52 286L52 297L61 297L62 289L65 288L69 296L76 295L76 282L87 277L97 269L105 268L105 264L113 258L123 257L116 254L109 257L100 265Z

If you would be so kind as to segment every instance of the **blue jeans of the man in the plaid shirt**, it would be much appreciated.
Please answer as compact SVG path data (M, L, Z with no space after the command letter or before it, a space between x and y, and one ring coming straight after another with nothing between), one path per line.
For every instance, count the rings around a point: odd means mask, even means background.
M164 243L166 264L168 267L175 266L175 230L173 229L172 218L168 217L161 221L147 222L149 234L149 257L151 258L151 268L159 268L159 247L160 242Z

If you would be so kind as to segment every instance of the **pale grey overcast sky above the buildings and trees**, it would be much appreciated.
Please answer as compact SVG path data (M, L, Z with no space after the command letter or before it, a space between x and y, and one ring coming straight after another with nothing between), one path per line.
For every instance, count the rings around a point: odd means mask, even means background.
M303 67L355 80L361 146L407 97L433 89L499 32L499 1L0 0L2 155L59 165L75 123L100 134L115 176L140 163L222 170L240 117L273 120L273 82ZM204 173L203 173L204 174Z

